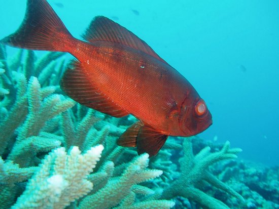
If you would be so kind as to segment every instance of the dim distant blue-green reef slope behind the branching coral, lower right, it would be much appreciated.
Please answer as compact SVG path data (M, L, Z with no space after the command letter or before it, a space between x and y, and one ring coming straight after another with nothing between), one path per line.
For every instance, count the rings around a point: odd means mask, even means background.
M210 146L211 150L218 152L222 149L222 144L203 141L195 137L193 141L193 152L198 153L204 147ZM270 168L255 162L239 159L229 159L216 162L210 166L210 172L220 181L240 194L245 201L239 198L228 196L225 191L212 186L205 186L203 191L207 194L226 203L229 208L279 208L279 168ZM195 203L184 198L177 198L176 206L187 205L187 208L199 208ZM191 206L192 205L192 206ZM177 207L181 208L181 207Z

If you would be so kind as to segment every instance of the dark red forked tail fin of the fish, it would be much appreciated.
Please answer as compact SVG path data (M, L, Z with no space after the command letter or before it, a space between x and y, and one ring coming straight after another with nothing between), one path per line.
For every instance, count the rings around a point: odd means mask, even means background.
M62 51L63 41L73 37L46 0L27 0L25 17L18 30L0 40L13 47Z

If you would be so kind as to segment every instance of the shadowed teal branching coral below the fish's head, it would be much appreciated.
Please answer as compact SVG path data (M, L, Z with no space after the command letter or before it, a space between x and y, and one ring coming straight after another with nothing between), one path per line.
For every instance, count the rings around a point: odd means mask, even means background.
M210 147L205 147L193 156L191 138L187 138L183 143L184 156L180 160L181 175L164 189L162 198L169 199L176 196L183 196L199 202L204 207L216 209L229 208L220 200L207 195L197 188L201 187L204 182L208 182L244 201L241 195L207 171L208 167L215 162L236 158L235 154L240 152L241 149L230 149L229 146L229 142L226 142L224 147L215 153L210 153Z

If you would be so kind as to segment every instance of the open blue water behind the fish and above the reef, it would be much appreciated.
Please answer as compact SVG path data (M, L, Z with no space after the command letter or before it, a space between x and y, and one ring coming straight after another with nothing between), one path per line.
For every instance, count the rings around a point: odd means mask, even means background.
M1 0L0 38L14 32L25 1ZM49 0L80 37L96 15L145 40L207 102L206 140L240 147L240 157L279 165L279 2ZM15 49L9 49L11 53Z

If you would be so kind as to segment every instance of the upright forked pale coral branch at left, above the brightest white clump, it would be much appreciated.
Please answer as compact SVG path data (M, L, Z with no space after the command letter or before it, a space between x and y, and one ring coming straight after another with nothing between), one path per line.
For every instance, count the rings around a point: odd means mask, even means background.
M37 153L51 150L61 144L55 139L38 137L46 121L75 105L72 100L65 99L62 95L53 94L54 91L53 87L41 88L36 77L32 76L29 79L25 96L23 96L28 104L28 114L18 131L16 142L8 156L9 160L18 163L21 167L29 166ZM26 108L27 113L27 106L24 108ZM7 127L6 129L9 130L9 124L13 123L13 120L9 121L8 119L9 117L0 124L0 128ZM13 130L10 133L13 133Z

